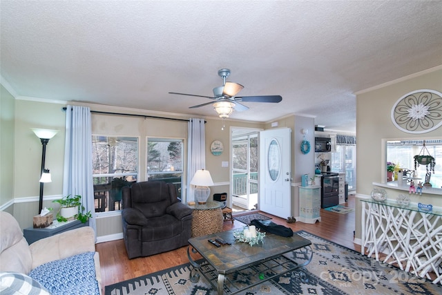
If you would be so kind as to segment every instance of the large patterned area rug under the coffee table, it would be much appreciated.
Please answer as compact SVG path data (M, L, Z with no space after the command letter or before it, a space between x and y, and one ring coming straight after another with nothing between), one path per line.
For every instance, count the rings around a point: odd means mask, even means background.
M442 294L441 285L434 285L390 265L378 263L372 258L309 234L307 231L298 231L296 234L311 240L314 254L311 263L304 268L309 277L308 282L303 283L300 272L291 271L239 294ZM299 251L290 253L291 258L302 255ZM191 264L186 263L154 274L125 280L106 286L104 294L216 294L204 277L201 277L198 283L191 283L189 279L191 269ZM247 272L243 272L241 279L247 284L256 278L250 278ZM229 294L229 289L224 288L224 294Z

